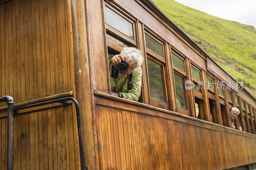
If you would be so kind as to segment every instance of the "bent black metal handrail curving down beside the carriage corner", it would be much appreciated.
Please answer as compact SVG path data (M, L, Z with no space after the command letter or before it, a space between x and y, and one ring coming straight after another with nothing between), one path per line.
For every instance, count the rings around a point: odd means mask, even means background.
M33 104L24 105L24 106L17 106L17 107L14 107L13 110L17 111L17 110L21 110L21 109L28 109L28 108L43 106L43 105L52 104L52 103L63 103L66 101L72 101L76 106L76 120L77 120L77 128L78 128L79 151L80 151L81 167L84 170L84 169L86 169L86 166L85 166L85 160L84 160L84 145L83 145L81 118L80 118L79 104L76 99L74 99L73 97L63 97L60 99L53 99L53 100L48 100L48 101L40 102L40 103L33 103ZM12 122L12 124L13 124L13 122ZM12 135L13 135L13 133L12 133Z

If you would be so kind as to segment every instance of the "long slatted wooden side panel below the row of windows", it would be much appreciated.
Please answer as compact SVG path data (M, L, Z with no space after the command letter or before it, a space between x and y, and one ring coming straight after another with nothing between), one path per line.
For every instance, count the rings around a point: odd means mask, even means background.
M101 169L225 169L256 161L255 138L100 105L96 112Z

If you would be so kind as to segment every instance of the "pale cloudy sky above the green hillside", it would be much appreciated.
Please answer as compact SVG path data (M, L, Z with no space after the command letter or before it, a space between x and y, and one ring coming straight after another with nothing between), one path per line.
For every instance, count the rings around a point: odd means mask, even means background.
M175 0L215 17L256 28L256 0Z

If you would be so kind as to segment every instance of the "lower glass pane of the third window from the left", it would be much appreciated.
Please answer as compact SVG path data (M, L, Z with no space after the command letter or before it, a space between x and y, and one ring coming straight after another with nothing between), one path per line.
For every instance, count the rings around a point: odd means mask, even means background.
M185 96L186 93L184 93L186 90L184 88L185 87L184 78L174 73L174 83L175 83L177 107L182 109L187 109L186 96Z

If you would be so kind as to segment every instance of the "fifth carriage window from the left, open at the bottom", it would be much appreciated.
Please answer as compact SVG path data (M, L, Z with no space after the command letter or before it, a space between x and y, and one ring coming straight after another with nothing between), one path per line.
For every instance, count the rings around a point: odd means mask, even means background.
M218 124L218 114L217 114L217 108L216 108L216 102L215 102L215 84L213 82L213 78L210 77L209 75L206 75L206 87L207 87L207 92L208 92L208 100L209 100L209 105L210 105L210 114L211 114L211 121L213 123Z

